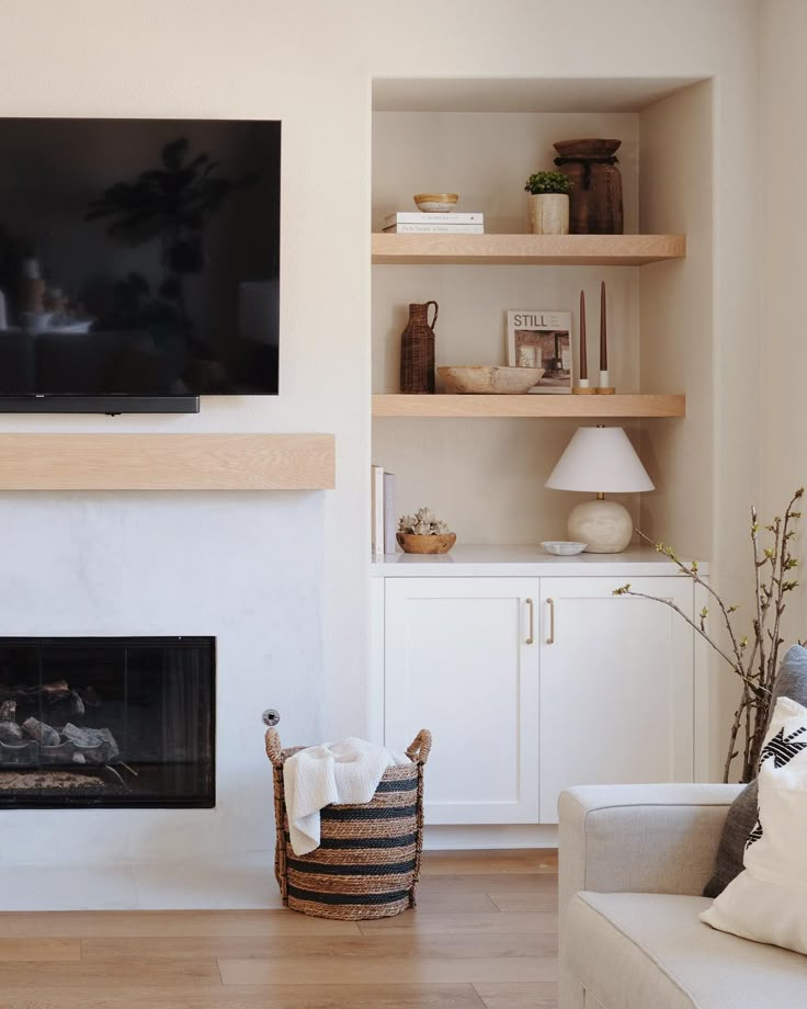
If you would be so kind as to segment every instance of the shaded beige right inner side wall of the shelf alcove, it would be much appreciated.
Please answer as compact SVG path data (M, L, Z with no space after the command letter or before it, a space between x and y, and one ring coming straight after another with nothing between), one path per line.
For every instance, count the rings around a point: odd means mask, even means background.
M641 230L686 235L685 260L639 272L641 388L686 394L685 420L644 424L641 528L696 557L714 543L713 100L705 81L639 117Z

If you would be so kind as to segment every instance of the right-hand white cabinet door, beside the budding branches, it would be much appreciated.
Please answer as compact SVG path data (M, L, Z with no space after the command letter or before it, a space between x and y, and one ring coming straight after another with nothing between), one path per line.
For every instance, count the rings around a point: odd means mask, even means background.
M570 785L693 780L693 634L626 578L541 579L541 821ZM633 578L692 615L687 579ZM553 634L554 610L554 634Z

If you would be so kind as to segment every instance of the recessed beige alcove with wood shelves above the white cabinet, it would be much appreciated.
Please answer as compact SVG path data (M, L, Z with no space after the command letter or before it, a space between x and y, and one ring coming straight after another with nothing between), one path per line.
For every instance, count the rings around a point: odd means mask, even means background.
M633 413L627 400L603 405L603 416L628 430L657 485L641 501L629 496L623 503L637 525L709 555L712 121L713 89L704 80L374 81L373 231L386 214L414 209L417 192L457 192L457 209L485 214L484 243L495 252L475 263L465 253L443 256L436 243L437 254L412 254L406 242L386 241L412 236L374 239L372 461L396 474L399 514L428 504L465 544L565 537L575 498L546 490L544 481L577 426L596 422L595 406L564 418L554 404L545 411L515 404L512 412L492 404L482 418L465 404L410 408L386 394L398 390L410 302L440 304L439 365L505 364L508 308L571 310L576 341L583 290L589 367L596 367L605 281L612 384L626 397L659 397L633 400ZM622 139L625 238L661 236L667 258L598 262L588 250L576 262L571 248L557 258L527 248L524 180L554 167L553 141L582 136ZM685 236L685 258L677 236ZM693 487L696 500L687 503Z

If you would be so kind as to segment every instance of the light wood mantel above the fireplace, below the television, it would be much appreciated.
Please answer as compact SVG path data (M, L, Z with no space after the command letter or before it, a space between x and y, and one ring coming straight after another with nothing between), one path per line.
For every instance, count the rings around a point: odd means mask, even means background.
M0 434L0 490L327 490L332 434Z

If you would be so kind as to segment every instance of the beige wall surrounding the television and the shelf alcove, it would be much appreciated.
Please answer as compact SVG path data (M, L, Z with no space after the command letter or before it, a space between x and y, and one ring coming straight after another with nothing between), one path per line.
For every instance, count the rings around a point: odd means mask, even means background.
M284 121L281 397L206 403L198 418L120 419L114 430L336 432L339 487L328 496L323 531L317 700L331 730L361 730L364 715L372 78L715 79L711 525L723 563L737 532L725 510L752 497L755 474L747 441L759 387L749 211L759 194L755 31L752 0L0 0L2 114ZM0 427L111 423L8 418ZM693 469L681 467L680 479L703 474L701 450L692 451ZM291 532L305 551L305 531Z

